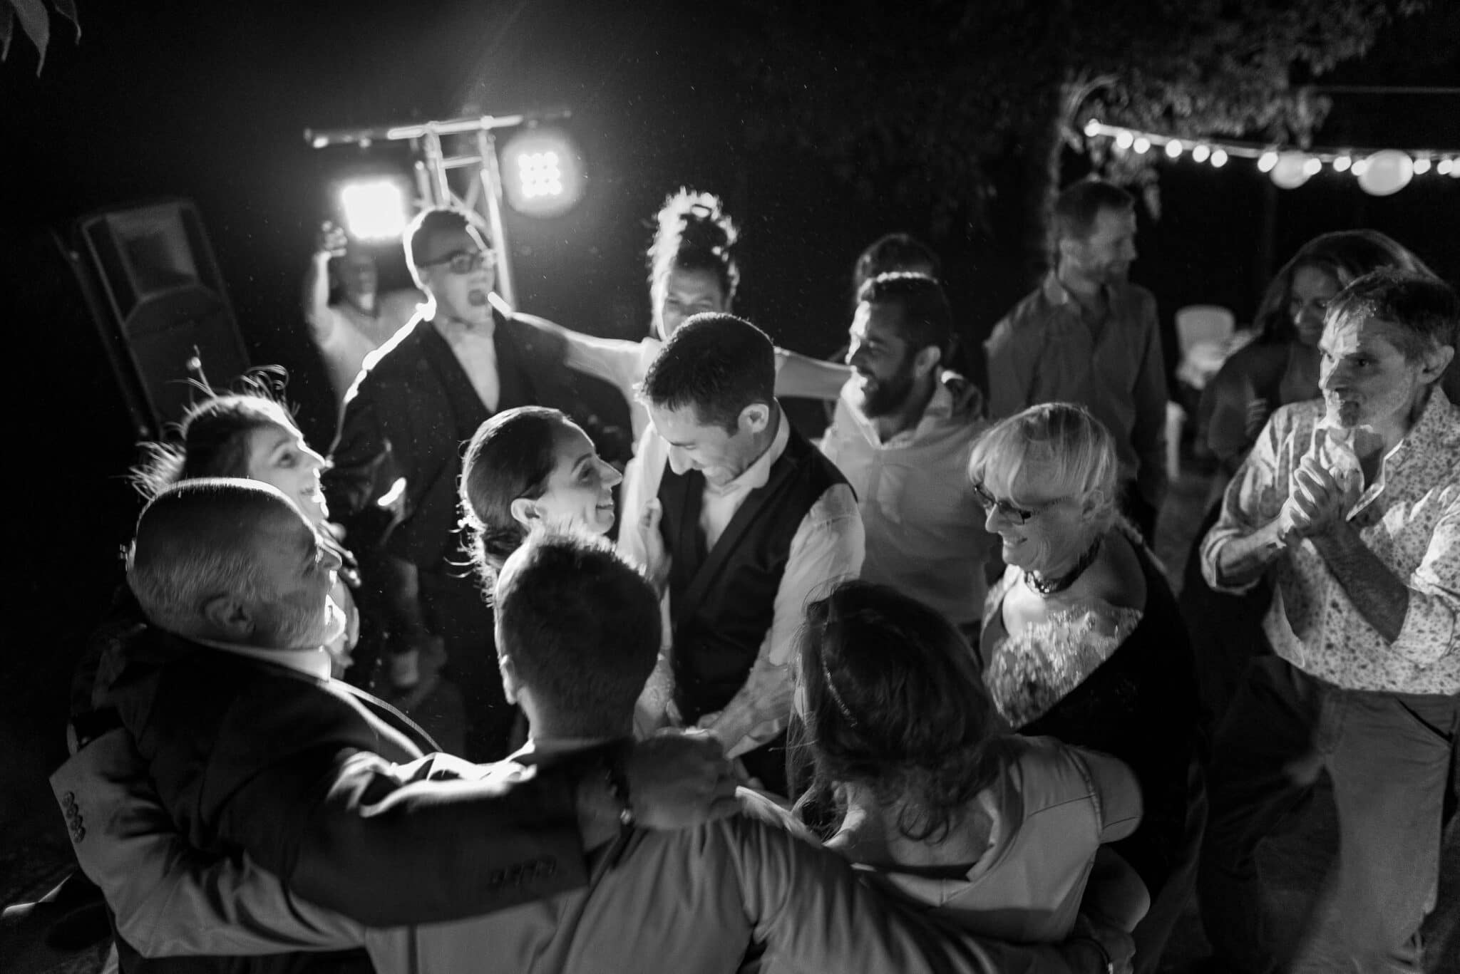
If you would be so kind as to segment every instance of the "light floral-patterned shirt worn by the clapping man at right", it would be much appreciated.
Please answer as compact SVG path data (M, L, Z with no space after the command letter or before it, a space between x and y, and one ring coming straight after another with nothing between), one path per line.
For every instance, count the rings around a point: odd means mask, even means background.
M1278 517L1323 415L1323 400L1275 412L1228 485L1221 518L1202 542L1202 571L1218 591L1256 584L1219 584L1218 552ZM1359 615L1304 539L1273 562L1278 588L1263 622L1273 650L1345 689L1460 694L1460 409L1438 387L1358 492L1348 520L1409 587L1399 638L1388 643Z

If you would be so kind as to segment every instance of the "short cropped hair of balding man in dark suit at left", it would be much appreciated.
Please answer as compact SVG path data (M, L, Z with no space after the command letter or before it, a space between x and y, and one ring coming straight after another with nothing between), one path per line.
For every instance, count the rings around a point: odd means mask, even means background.
M188 635L213 597L232 594L258 606L269 593L253 526L280 505L302 517L282 492L258 480L204 478L164 488L142 508L127 552L127 587L143 615Z

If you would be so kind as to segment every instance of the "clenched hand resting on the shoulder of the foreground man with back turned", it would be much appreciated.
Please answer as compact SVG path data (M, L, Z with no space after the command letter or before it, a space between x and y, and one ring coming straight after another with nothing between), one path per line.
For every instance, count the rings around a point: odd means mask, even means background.
M734 777L720 742L710 736L660 733L635 742L623 758L634 821L676 829L734 813Z

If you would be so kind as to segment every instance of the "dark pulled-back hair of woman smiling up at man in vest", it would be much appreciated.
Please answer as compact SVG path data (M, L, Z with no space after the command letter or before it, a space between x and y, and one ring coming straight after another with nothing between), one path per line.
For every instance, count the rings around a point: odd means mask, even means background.
M502 562L527 536L512 501L536 499L556 464L553 437L572 421L546 406L504 409L477 426L461 460L461 527L470 534L472 562L491 588Z

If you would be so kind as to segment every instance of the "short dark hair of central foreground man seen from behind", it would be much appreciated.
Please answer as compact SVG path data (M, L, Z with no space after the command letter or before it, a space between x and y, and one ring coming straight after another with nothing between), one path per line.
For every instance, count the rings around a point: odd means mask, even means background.
M536 527L496 581L496 645L583 733L631 717L660 645L654 587L613 546Z

